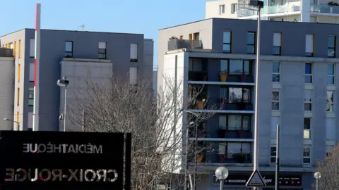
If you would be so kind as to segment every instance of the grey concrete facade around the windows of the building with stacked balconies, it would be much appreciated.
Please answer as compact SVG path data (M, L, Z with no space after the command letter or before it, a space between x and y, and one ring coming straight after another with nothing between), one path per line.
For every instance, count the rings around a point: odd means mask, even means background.
M294 30L291 30L293 28ZM334 99L338 99L338 53L334 58L328 58L327 42L329 35L337 35L335 32L339 25L319 24L319 23L289 23L289 22L268 22L263 21L261 24L261 63L259 68L259 106L258 106L258 163L261 172L273 172L274 163L271 161L271 147L275 147L275 123L273 117L278 118L280 124L280 171L285 175L298 175L301 184L299 186L285 186L284 188L294 189L311 189L315 164L323 160L328 150L326 146L333 146L338 143L338 122L333 126L327 126L328 119L334 119L338 112L336 109L339 102L335 101L334 111L326 111L326 91L334 91ZM222 51L222 32L232 32L232 53L223 53ZM199 32L199 39L203 44L203 49L182 48L168 51L167 43L170 37L183 36L183 40L189 42L189 34ZM208 106L219 104L220 89L222 87L234 87L250 89L251 102L243 110L236 107L220 108L220 110L203 110L213 111L215 115L206 122L206 134L199 137L201 141L212 143L211 151L203 158L206 163L200 163L207 173L213 175L218 166L226 166L234 175L251 173L253 170L253 160L249 158L245 163L234 163L234 160L227 158L221 161L217 158L220 144L242 143L242 147L248 144L249 155L253 156L253 133L254 133L254 69L256 67L256 56L246 53L246 33L256 32L256 20L231 20L213 18L201 20L195 23L179 25L159 30L159 62L158 62L158 88L162 87L162 74L167 73L166 68L171 68L184 61L184 87L185 84L204 84L208 91ZM281 54L273 56L273 33L281 33ZM305 56L306 35L314 34L314 56ZM181 40L181 39L177 39ZM336 38L338 44L338 38ZM335 47L335 51L338 47ZM170 63L171 57L177 56L177 63ZM182 58L183 60L179 60ZM189 61L199 59L202 61L202 70L207 80L189 79L191 75ZM249 72L245 81L239 81L237 77L229 75L227 82L221 82L219 78L221 60L230 61L250 61L252 70ZM166 61L165 61L166 60ZM174 60L172 58L172 60ZM280 81L273 82L273 62L280 63ZM312 82L309 84L305 80L305 63L311 63ZM328 65L334 65L334 84L328 84ZM172 68L174 68L172 66ZM181 72L181 71L180 71ZM279 92L279 108L272 108L273 91ZM311 91L311 110L304 110L304 99L307 91ZM187 92L184 89L184 101L187 99ZM191 108L190 111L200 112L201 110ZM225 137L218 137L220 129L220 115L249 115L251 117L251 129L242 137L237 133L227 131ZM227 116L228 117L228 116ZM304 118L311 118L310 137L305 137ZM183 121L183 123L185 123ZM334 130L329 132L335 134L334 139L328 139L326 131L333 127ZM194 138L193 138L194 139ZM218 145L219 144L219 145ZM310 156L304 156L304 148L309 148ZM332 149L333 150L333 149ZM237 150L240 151L240 150ZM213 152L213 153L212 153ZM304 161L309 158L309 163ZM204 162L203 161L203 162ZM199 163L198 163L199 164ZM193 167L193 166L192 166ZM248 175L249 175L248 174ZM202 179L198 184L198 189L216 189L208 179ZM206 180L206 182L204 182ZM208 184L206 184L208 183ZM244 185L232 186L225 188L244 188ZM270 187L271 188L271 187Z

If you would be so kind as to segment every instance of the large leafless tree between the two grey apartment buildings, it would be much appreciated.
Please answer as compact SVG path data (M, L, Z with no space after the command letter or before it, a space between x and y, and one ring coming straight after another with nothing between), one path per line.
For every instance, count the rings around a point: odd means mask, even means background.
M201 101L207 108L206 88L189 87L191 98L184 102L182 81L170 78L165 81L166 87L158 89L154 97L151 82L130 85L117 78L93 82L88 77L69 108L72 124L82 126L84 131L131 132L132 189L151 189L164 181L182 185L185 181L182 175L173 173L187 172L187 159L201 163L202 153L208 149L205 141L184 141L186 136L203 134L206 129L201 123L213 115L184 111L196 109L199 103L201 107Z

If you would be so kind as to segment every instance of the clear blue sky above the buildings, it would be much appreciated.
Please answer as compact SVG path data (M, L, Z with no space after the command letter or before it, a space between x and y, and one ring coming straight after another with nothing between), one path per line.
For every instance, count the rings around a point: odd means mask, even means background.
M42 28L145 34L155 41L157 30L202 20L207 0L1 0L0 36L35 27L35 4L42 6Z

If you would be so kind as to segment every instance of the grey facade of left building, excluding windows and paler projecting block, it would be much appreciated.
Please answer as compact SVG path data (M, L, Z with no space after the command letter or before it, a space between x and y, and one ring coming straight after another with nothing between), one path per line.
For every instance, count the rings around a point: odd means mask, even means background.
M30 40L34 38L33 29L24 29L0 37L1 46L16 42L16 51L20 40L20 58L16 56L15 61L16 71L20 63L20 82L15 82L15 89L20 88L20 103L14 100L14 105L18 106L14 106L13 113L19 113L18 120L22 123L22 130L30 126L28 113L33 111L33 106L28 104L28 94L29 88L33 87L33 81L30 80L30 63L34 63L34 57L30 55ZM59 130L60 88L57 86L57 80L61 76L60 62L65 56L66 41L73 42L73 58L97 60L98 43L106 42L106 59L112 62L114 77L129 80L129 70L133 67L138 68L138 77L150 81L153 78L153 40L144 39L143 34L41 30L40 130ZM138 61L133 62L130 61L132 43L138 44ZM18 72L16 78L17 75ZM13 116L13 120L17 120L16 116Z

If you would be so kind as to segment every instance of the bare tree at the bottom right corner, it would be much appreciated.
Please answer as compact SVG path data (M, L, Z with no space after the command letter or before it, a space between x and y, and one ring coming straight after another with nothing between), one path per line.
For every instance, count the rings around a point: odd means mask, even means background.
M321 173L321 179L318 181L319 190L338 190L339 189L339 146L335 147L332 154L326 155L323 162L316 164L316 171ZM316 183L312 184L316 189Z

